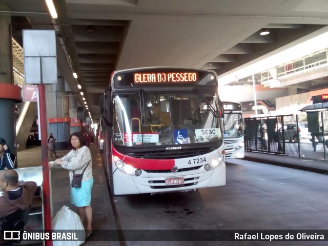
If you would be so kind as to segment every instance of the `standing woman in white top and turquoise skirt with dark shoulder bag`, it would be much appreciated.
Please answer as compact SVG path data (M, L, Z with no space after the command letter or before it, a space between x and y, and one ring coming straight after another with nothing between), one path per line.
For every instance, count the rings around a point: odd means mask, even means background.
M84 218L86 218L87 226L85 230L86 237L88 237L92 233L91 189L93 177L91 153L89 148L85 146L83 134L80 132L75 132L71 135L71 145L73 150L64 157L50 161L49 166L52 167L55 164L59 164L62 168L68 169L70 171L70 186L73 173L81 174L87 167L83 174L81 187L71 187L71 203L77 207L77 213L81 221L83 222Z

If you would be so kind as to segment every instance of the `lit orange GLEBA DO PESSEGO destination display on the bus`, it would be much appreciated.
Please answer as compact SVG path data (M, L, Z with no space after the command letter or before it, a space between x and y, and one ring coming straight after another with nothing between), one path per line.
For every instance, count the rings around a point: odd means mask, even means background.
M192 83L198 80L197 72L149 72L134 73L135 84L147 83Z

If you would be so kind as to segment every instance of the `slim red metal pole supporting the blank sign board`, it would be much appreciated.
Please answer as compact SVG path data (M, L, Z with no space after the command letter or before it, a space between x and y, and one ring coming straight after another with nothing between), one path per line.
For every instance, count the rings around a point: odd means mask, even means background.
M41 151L42 151L42 170L43 170L43 208L45 230L51 230L51 199L49 183L49 165L48 165L48 143L47 143L47 112L46 112L46 91L45 85L38 85L39 94L39 124L41 130ZM46 241L46 246L51 246L52 241Z

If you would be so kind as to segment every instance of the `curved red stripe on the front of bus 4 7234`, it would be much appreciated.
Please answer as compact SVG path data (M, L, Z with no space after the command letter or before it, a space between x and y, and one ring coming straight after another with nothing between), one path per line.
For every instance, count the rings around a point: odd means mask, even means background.
M118 153L112 146L113 156L117 156L124 163L142 170L171 170L174 167L174 159L141 159Z

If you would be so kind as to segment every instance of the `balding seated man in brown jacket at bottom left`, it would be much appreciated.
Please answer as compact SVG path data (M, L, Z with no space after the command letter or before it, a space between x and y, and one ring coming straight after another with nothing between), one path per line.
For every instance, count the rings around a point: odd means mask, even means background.
M32 204L36 191L36 182L27 181L18 183L18 174L15 170L0 172L0 189L4 192L0 196L0 228L3 218L18 209L27 209ZM4 242L0 241L0 245Z

